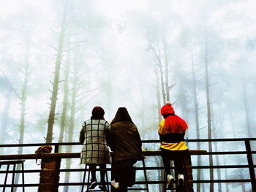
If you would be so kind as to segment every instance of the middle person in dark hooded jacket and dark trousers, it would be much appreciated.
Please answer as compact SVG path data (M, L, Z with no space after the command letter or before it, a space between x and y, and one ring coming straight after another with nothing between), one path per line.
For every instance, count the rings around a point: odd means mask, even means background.
M142 158L141 139L138 128L125 107L118 108L115 118L110 123L110 149L113 151L113 178L111 185L126 192L132 186L134 177L133 164Z

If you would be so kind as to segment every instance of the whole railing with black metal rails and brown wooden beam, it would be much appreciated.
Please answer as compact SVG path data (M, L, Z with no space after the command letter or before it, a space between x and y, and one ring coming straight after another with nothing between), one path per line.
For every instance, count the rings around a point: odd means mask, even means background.
M217 166L192 166L192 169L230 169L230 168L243 168L249 169L250 177L247 179L236 179L236 180L193 180L193 183L251 183L252 191L256 191L256 180L255 180L255 164L253 164L253 155L256 154L256 151L251 149L250 142L256 141L256 138L238 138L238 139L189 139L188 142L244 142L246 150L240 151L215 151L215 152L206 152L203 150L190 150L191 155L234 155L234 154L244 154L246 155L248 164L245 165L217 165ZM150 140L150 141L143 141L143 143L159 143L158 140ZM12 145L0 145L0 147L35 147L41 145L52 145L54 147L54 153L45 154L45 157L56 157L56 158L80 158L80 153L58 153L59 146L61 145L80 145L80 143L37 143L37 144L12 144ZM159 151L143 151L143 154L146 156L153 156L153 155L160 155ZM12 160L12 159L36 159L36 154L21 154L21 155L0 155L1 160ZM138 167L138 170L143 169L142 167ZM146 170L152 169L163 169L162 166L155 167L151 166L145 167ZM110 171L110 170L108 170ZM10 171L12 172L12 171ZM20 171L18 171L20 172ZM25 170L25 173L31 172L40 172L40 170ZM84 169L60 169L60 172L84 172ZM1 170L0 174L4 174L5 171ZM162 184L163 181L161 180L151 180L147 182L148 184ZM137 184L146 184L143 181L138 182ZM65 185L83 185L83 183L59 183L61 186ZM0 183L0 187L3 185ZM7 187L10 185L7 185ZM15 186L20 187L20 184L15 184ZM39 186L38 183L26 183L25 187L33 187Z

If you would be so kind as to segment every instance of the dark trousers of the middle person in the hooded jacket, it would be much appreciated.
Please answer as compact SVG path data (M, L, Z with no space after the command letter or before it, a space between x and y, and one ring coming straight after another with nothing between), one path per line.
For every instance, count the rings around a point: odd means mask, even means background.
M135 182L134 159L117 161L113 164L113 179L119 183L119 191L127 192L127 187L132 186Z

